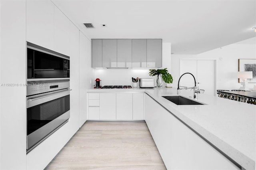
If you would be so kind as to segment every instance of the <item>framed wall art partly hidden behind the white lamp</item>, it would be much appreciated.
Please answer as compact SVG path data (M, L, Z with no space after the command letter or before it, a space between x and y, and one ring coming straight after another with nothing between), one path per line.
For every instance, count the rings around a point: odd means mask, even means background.
M252 79L247 79L247 82L256 83L256 59L238 59L238 71L252 71Z

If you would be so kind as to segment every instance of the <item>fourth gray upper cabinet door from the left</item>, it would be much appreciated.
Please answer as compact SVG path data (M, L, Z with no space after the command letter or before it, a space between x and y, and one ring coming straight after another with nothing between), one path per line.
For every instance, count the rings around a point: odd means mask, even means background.
M132 67L140 68L147 67L147 40L133 39L132 40Z

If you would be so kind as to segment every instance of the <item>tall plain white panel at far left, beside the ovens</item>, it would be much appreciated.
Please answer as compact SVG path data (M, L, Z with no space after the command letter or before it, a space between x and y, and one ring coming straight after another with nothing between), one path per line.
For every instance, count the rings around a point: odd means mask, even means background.
M0 1L0 169L26 169L26 1Z

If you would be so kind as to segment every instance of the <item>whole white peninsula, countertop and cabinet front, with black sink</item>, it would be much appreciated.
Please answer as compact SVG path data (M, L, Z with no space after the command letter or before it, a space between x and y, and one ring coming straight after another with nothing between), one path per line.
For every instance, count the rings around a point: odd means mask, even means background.
M255 169L255 105L204 94L197 101L206 105L176 105L162 97L174 88L145 93L145 121L167 169Z

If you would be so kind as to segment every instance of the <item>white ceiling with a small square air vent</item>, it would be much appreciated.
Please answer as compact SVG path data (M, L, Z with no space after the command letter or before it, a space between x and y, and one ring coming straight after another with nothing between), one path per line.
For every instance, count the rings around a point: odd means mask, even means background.
M256 36L256 0L52 1L89 38L162 38L175 54L198 54Z

